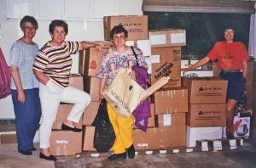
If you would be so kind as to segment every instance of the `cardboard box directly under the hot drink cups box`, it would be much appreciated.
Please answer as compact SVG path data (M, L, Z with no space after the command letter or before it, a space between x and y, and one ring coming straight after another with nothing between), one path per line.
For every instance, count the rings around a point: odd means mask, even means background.
M155 114L188 112L188 89L172 87L154 92Z

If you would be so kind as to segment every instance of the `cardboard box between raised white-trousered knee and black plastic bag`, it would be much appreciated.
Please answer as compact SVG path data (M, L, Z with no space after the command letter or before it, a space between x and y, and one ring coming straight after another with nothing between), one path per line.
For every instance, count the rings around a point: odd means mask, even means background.
M91 102L89 106L85 109L84 115L83 115L83 125L84 126L91 126L91 123L94 121L100 102Z

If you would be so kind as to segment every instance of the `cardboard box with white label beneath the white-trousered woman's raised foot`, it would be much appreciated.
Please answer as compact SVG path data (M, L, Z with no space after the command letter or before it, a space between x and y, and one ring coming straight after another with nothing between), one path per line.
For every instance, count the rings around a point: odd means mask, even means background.
M82 152L82 132L53 130L49 138L49 151L55 156Z

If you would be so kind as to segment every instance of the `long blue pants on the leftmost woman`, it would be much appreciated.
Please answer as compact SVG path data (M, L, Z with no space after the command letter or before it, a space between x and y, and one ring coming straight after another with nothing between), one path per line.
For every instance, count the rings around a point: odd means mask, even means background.
M15 109L16 135L18 149L28 150L34 148L33 139L38 130L41 117L41 104L39 89L24 90L25 103L18 102L17 90L12 90L12 99Z

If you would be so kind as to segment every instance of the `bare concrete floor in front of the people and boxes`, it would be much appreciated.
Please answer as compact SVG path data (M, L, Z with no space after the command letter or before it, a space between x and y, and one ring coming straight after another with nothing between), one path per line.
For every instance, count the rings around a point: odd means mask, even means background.
M35 145L38 147L38 144ZM154 168L154 167L172 167L172 168L212 168L212 167L255 167L256 148L251 143L244 143L236 149L225 149L223 151L191 152L177 154L142 154L137 155L133 160L109 162L104 157L88 157L86 154L80 154L79 158L75 156L58 157L57 162L41 160L38 157L39 150L33 152L32 156L19 154L16 150L17 144L0 145L0 167L2 168Z

